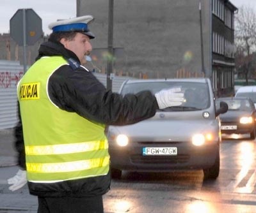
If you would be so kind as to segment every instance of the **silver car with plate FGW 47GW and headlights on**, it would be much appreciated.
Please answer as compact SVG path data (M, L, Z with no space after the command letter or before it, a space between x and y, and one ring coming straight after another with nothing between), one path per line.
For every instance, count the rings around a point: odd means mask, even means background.
M221 131L208 78L167 80L127 80L121 94L180 87L185 101L181 106L158 110L154 117L127 126L109 126L109 154L113 178L122 170L170 172L203 169L205 179L216 179L220 172Z

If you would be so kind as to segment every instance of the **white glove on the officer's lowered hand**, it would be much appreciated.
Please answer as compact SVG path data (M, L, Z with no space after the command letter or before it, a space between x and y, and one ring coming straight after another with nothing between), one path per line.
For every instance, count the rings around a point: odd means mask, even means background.
M20 189L27 183L27 172L25 170L19 170L16 175L8 179L7 182L12 185L9 187L11 191Z

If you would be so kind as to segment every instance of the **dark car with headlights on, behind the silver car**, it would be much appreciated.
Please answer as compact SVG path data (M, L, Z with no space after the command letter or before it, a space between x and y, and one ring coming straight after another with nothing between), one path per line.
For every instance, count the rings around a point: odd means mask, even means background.
M255 105L250 98L227 97L216 99L216 107L225 101L228 111L220 115L221 133L224 134L250 134L255 139L256 112Z

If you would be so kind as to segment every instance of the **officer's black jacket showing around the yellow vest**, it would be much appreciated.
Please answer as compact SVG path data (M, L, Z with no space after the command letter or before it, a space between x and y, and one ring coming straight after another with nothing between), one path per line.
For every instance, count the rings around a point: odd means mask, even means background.
M158 109L150 91L122 97L107 91L97 78L79 66L79 59L61 43L47 41L40 46L37 60L43 56L63 56L70 65L63 65L49 78L48 92L51 101L63 110L76 112L90 121L106 125L125 125L148 119ZM47 113L47 112L45 112ZM15 145L19 152L19 165L26 168L22 125L15 129ZM93 196L103 195L109 189L110 175L68 180L52 184L29 182L29 191L38 196Z

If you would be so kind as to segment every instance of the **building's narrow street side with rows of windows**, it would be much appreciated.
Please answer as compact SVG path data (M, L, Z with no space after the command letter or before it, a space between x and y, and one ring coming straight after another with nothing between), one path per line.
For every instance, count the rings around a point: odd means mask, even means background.
M234 92L236 12L236 6L230 1L212 0L212 84L218 96Z

